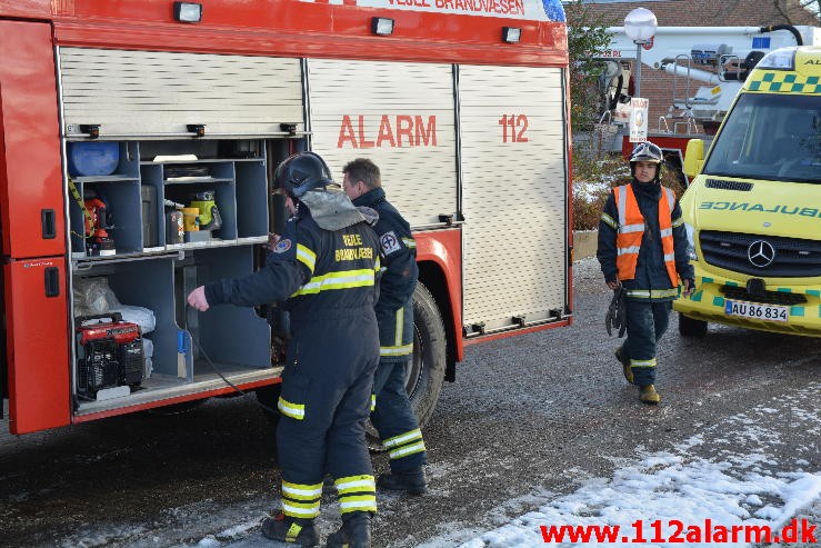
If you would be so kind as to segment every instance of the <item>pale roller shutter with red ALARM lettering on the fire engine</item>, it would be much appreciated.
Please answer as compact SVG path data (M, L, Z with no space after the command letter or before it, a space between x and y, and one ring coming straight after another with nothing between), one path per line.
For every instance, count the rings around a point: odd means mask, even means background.
M450 64L311 59L309 82L311 148L334 179L350 160L370 158L412 226L457 211Z

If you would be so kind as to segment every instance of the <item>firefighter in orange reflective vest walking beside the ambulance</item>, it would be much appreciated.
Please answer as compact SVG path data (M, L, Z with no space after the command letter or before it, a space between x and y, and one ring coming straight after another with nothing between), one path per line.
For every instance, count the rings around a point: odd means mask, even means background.
M632 181L612 189L599 223L597 258L604 281L624 296L627 335L615 351L624 378L639 386L639 399L659 403L657 341L668 328L672 301L694 288L681 208L661 185L661 149L639 143L630 156Z

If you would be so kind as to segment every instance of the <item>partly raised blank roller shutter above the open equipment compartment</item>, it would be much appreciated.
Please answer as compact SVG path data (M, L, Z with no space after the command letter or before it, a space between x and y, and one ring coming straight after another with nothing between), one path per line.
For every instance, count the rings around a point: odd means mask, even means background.
M304 129L298 59L60 48L66 133L163 136L206 124L208 134Z

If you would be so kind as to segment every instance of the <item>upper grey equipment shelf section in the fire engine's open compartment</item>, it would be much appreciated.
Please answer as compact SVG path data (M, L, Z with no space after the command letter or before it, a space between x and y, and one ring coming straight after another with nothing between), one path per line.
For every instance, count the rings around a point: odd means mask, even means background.
M107 203L107 213L113 220L112 228L107 231L114 240L117 257L262 243L268 238L268 173L264 149L254 142L244 142L241 145L249 149L256 147L258 150L256 153L261 156L250 158L214 156L221 149L233 145L122 141L119 142L120 163L114 173L70 176L70 178L79 196L84 197L89 189L93 189ZM140 160L141 155L149 158L178 156L180 159ZM183 155L188 155L189 158L184 158ZM209 157L199 159L201 156ZM192 159L194 157L198 159ZM172 175L173 171L180 172L179 167L191 167L197 170L198 166L202 167L198 175L207 173L207 177L169 176L170 171ZM209 190L214 192L214 203L222 218L222 227L213 230L210 237L199 235L201 241L172 241L170 239L172 235L167 230L170 227L167 227L166 200L186 207L192 200L193 193ZM83 237L86 212L77 198L69 205L69 218L72 258L76 261L109 259L88 256L90 240ZM193 232L191 239L194 239Z

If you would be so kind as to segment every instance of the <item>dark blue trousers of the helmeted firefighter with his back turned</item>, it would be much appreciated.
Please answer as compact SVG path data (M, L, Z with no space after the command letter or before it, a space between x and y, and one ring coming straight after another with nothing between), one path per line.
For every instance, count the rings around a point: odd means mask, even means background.
M334 478L342 515L377 511L364 439L379 363L376 318L339 318L294 330L282 372L277 450L282 511L319 516L322 479Z

